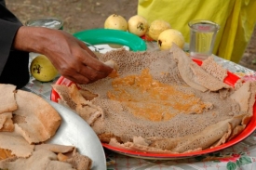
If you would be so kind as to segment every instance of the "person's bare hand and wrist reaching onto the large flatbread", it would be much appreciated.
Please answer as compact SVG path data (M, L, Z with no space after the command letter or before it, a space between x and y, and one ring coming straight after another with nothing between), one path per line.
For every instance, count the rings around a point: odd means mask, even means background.
M113 72L113 68L98 60L85 43L63 31L22 26L14 47L44 54L62 76L78 84L95 82Z

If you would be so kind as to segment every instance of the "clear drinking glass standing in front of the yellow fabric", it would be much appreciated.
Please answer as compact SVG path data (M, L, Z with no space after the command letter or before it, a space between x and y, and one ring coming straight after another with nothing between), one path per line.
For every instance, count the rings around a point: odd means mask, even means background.
M188 26L190 27L190 56L194 59L207 59L212 54L220 25L210 20L192 20Z

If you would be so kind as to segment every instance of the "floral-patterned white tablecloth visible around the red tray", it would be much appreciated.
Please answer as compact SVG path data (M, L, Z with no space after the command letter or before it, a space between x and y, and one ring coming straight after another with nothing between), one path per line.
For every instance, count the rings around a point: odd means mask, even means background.
M155 45L147 43L148 50L155 50ZM215 57L215 60L230 72L238 75L246 81L255 81L256 72L251 71L234 62ZM51 85L55 84L59 77L48 83L41 83L31 77L30 82L23 90L31 91L42 98L50 98ZM107 159L107 169L156 169L156 170L236 170L236 169L256 169L256 132L237 143L233 147L225 150L196 156L193 158L155 161L140 158L128 157L111 150L105 149Z

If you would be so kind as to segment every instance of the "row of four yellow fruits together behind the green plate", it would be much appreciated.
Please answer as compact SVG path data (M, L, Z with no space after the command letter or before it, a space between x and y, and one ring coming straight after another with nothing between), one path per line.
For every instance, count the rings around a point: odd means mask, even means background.
M173 43L183 48L185 41L181 32L172 29L165 20L154 20L151 24L142 16L135 15L127 21L124 17L113 14L104 22L105 29L121 30L138 36L149 36L157 42L161 50L169 49Z

